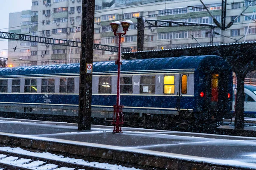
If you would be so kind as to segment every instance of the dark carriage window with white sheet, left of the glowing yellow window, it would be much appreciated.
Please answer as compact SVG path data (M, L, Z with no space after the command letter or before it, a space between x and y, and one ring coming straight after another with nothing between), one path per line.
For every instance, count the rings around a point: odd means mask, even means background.
M140 93L141 94L155 93L155 76L140 77Z

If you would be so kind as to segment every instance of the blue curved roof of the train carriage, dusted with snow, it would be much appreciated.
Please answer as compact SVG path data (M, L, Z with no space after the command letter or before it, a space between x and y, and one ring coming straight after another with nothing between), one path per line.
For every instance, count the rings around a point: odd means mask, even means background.
M196 69L201 65L219 65L224 59L218 56L186 56L154 59L123 60L121 71ZM226 63L226 62L225 62ZM0 75L79 73L80 64L37 65L29 67L0 68ZM93 62L93 72L117 71L113 61Z

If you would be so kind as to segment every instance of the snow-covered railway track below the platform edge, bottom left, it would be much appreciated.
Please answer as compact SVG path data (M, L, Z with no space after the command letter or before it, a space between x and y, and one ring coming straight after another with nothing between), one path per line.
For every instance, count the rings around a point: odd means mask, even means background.
M54 170L64 167L73 170L107 170L106 168L0 151L0 168L3 170Z

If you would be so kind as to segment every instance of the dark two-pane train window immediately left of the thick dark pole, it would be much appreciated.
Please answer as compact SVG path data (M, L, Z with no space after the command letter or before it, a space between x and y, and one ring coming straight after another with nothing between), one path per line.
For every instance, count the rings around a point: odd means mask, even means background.
M74 78L61 78L60 93L74 93L74 92L75 92Z

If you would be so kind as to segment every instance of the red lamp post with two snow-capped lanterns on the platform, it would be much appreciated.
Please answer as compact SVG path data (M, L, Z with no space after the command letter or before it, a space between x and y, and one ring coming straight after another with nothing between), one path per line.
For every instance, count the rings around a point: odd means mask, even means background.
M123 113L122 113L122 108L124 107L123 105L120 105L120 68L121 68L121 37L126 34L126 31L128 31L129 26L132 24L132 21L127 20L127 21L122 21L121 23L119 21L115 21L113 23L110 23L112 31L114 32L115 36L118 36L118 59L116 59L115 64L118 65L117 69L117 90L116 90L116 105L114 105L114 113L113 113L113 133L122 133L122 125L124 124L123 122ZM119 32L118 28L119 26L122 25L124 33ZM121 121L120 121L121 118Z

